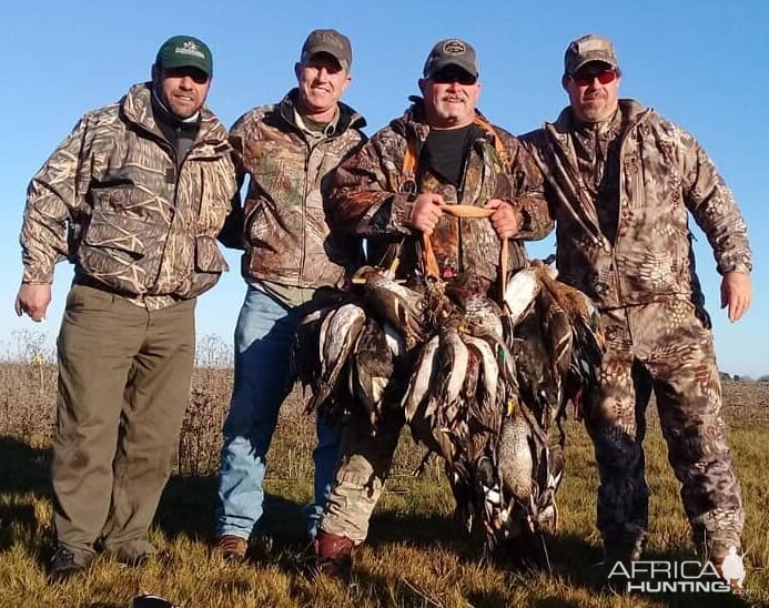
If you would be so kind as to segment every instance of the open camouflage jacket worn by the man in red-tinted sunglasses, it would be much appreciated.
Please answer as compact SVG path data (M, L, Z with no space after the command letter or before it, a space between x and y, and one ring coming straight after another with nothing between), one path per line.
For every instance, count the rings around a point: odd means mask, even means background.
M695 273L688 212L714 249L718 271L750 272L745 221L712 161L681 128L620 100L616 236L600 231L596 201L577 170L570 108L523 135L547 176L561 281L601 308L704 297Z

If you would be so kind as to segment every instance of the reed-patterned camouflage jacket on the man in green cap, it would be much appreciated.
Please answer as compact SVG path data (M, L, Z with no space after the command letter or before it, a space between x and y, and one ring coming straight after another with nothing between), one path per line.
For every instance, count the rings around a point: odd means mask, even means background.
M21 229L24 283L75 277L162 307L212 287L226 262L216 234L235 194L226 130L201 110L179 171L152 115L149 83L85 114L32 178Z

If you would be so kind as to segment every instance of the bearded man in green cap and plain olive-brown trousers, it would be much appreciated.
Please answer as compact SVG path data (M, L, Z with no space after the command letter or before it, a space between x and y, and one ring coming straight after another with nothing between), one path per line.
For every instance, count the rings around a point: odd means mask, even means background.
M212 68L203 42L169 39L151 82L87 113L29 186L17 314L44 318L55 262L74 264L58 340L54 580L97 547L128 564L154 553L195 298L226 270L216 236L236 192L226 129L204 107Z

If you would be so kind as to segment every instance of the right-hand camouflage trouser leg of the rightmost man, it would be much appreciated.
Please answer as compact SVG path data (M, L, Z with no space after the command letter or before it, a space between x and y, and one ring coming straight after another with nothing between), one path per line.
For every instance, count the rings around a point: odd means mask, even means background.
M645 318L657 327L655 393L668 459L695 541L716 557L739 548L745 520L721 416L721 385L712 334L688 302L657 305ZM648 316L647 314L647 316Z

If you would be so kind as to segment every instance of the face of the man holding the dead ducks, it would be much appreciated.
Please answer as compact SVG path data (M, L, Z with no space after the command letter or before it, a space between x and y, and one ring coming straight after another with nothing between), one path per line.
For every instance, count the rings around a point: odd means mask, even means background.
M475 120L480 84L464 70L448 67L433 78L421 79L419 90L425 99L425 114L431 126L456 129Z

